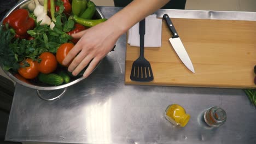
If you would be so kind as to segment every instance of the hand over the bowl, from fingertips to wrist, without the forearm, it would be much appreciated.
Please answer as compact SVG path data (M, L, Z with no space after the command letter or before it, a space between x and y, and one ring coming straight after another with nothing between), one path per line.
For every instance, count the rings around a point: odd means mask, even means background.
M98 62L113 49L121 34L117 27L107 21L73 34L73 38L80 40L69 51L63 64L67 65L73 59L68 71L76 76L90 63L83 74L84 77L88 77Z

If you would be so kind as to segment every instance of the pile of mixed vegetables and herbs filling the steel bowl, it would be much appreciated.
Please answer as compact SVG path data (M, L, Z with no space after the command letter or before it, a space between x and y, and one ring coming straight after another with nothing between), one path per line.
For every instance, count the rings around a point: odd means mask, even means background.
M42 5L41 5L42 4ZM0 27L0 64L17 79L62 85L74 77L62 65L79 39L72 34L106 21L93 19L90 0L31 0L5 17ZM80 73L78 76L82 76Z

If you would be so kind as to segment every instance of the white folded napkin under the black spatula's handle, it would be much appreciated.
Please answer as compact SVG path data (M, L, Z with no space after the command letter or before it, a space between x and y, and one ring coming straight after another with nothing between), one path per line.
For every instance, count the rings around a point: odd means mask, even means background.
M156 15L149 15L145 20L144 47L161 47L162 45L162 20ZM139 22L129 29L128 44L139 47Z

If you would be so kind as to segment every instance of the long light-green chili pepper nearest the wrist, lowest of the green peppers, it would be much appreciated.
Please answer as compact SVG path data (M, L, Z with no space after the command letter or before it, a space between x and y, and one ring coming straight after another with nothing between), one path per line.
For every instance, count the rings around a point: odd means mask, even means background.
M77 15L70 16L71 19L73 19L75 22L86 26L86 27L93 27L98 25L98 23L104 22L107 19L97 19L97 20L88 20L88 19L82 19L81 17L78 17Z

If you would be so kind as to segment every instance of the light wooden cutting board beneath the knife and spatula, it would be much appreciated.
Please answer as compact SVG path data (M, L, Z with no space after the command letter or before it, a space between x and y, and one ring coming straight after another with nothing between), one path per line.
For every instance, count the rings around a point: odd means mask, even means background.
M126 43L125 84L189 87L255 88L256 21L174 19L173 25L194 65L181 62L168 41L172 34L162 21L162 46L146 47L154 74L151 82L130 80L139 47Z

